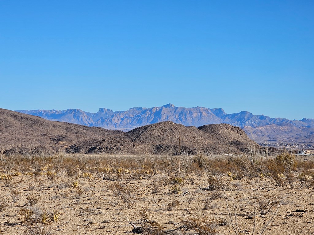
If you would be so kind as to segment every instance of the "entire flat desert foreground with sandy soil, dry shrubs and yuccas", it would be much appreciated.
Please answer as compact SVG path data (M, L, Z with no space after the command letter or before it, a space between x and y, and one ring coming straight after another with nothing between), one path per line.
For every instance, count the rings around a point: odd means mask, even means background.
M292 154L3 155L0 232L314 234L313 168Z

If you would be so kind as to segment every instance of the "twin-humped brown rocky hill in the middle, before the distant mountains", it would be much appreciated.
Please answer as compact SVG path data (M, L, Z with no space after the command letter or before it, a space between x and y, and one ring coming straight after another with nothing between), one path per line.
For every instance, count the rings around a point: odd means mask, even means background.
M135 128L127 133L81 141L69 149L83 153L226 153L232 145L234 152L243 152L254 143L241 128L229 124L211 124L200 128L185 127L171 121Z

